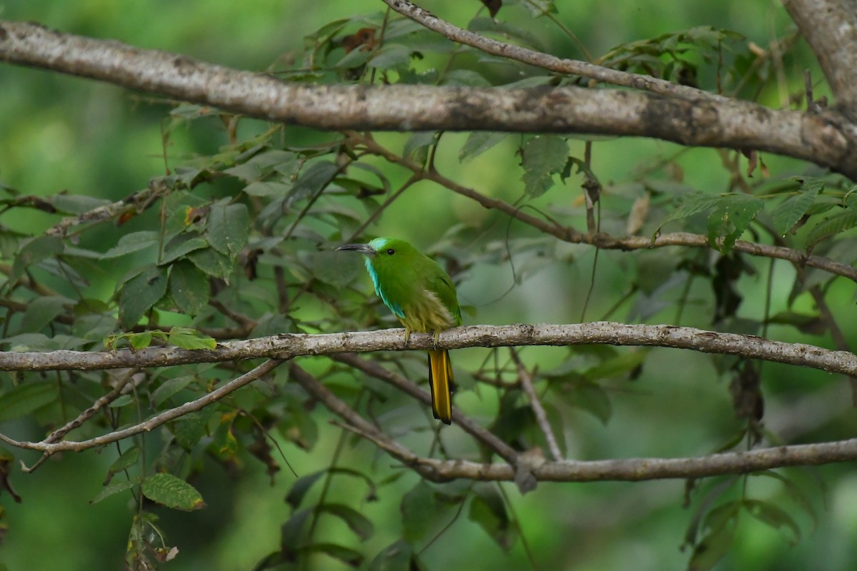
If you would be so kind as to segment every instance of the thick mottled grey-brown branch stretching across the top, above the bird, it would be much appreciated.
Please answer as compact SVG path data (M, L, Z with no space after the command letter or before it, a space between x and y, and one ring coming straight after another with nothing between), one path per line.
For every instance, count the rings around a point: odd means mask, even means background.
M163 51L0 21L0 60L328 130L489 130L644 136L755 149L857 180L857 126L819 114L579 87L308 86Z

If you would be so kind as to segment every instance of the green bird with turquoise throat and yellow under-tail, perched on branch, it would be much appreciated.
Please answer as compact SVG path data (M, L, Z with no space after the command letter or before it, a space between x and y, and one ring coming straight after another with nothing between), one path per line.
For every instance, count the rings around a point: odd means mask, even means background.
M404 240L375 238L369 244L345 244L337 250L353 250L366 256L366 269L375 294L405 325L405 343L411 331L434 334L461 324L455 285L433 259ZM428 385L434 418L452 421L452 364L446 350L428 351Z

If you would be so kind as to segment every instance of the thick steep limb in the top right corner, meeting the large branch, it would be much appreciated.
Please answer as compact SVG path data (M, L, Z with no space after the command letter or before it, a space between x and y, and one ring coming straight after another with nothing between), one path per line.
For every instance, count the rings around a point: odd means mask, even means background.
M815 52L837 106L857 117L857 0L785 0Z

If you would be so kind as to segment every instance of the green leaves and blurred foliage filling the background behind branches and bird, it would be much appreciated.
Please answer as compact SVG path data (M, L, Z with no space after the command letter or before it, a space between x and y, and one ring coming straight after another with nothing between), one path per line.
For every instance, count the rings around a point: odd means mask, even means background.
M559 22L604 65L774 107L801 104L803 69L821 77L785 11L768 0L558 1L545 3L554 11L541 17L519 0L500 9L500 25L478 2L447 4L424 6L462 27L583 58ZM0 0L3 19L283 80L573 82L482 57L411 21L386 19L383 9L369 0ZM770 57L771 42L782 59ZM604 250L594 265L591 247L556 241L431 181L387 205L411 173L343 134L224 116L37 69L4 65L0 85L3 350L99 349L105 339L114 347L210 347L231 336L391 326L359 260L331 252L352 235L398 235L439 259L462 304L476 312L471 324L614 318L832 347L810 289L819 288L837 317L853 306L853 287L841 278L732 252L743 237L854 261L848 181L787 158L596 140L588 169L601 185L602 231L686 229L708 235L714 247ZM816 97L824 94L818 85ZM417 163L432 155L460 185L586 228L583 138L373 136ZM105 223L71 226L62 238L44 234L63 217L122 199L133 207ZM638 219L629 230L632 211ZM857 333L850 320L837 323L846 338ZM666 349L524 348L521 355L569 458L702 455L756 437L776 444L854 434L848 388L817 371ZM422 355L373 358L411 379L425 375ZM543 447L506 352L473 348L453 359L457 407L518 449ZM454 426L440 431L439 446L423 407L374 378L324 358L301 365L419 454L484 454ZM71 436L134 423L247 368L149 372L145 386L114 401L98 426ZM0 428L44 437L122 374L3 374ZM759 386L763 424L754 408ZM427 569L708 568L720 556L722 569L836 569L854 560L857 496L848 467L710 479L687 489L673 481L543 483L522 497L513 485L423 482L331 418L281 368L217 407L100 454L57 456L24 474L16 462L38 456L15 451L12 461L8 451L0 461L22 502L3 493L0 562L113 569L126 550L137 565L175 557L164 568L213 569L289 568L293 560L300 568L407 568L411 558Z

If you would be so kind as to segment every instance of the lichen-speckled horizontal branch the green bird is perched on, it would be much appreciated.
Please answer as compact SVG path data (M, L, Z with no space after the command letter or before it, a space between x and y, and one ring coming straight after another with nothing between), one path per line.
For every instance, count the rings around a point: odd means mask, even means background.
M411 335L405 344L402 329L307 335L283 333L245 341L219 343L214 350L176 347L119 351L52 351L50 353L0 352L0 371L94 371L126 366L172 366L215 363L262 357L287 360L302 355L407 351L464 347L525 345L643 345L692 349L703 353L740 354L751 359L807 366L826 372L857 376L857 355L830 351L803 343L771 341L758 336L718 333L674 325L631 325L609 322L586 324L514 324L456 327L433 336Z

